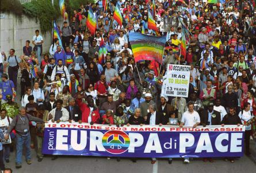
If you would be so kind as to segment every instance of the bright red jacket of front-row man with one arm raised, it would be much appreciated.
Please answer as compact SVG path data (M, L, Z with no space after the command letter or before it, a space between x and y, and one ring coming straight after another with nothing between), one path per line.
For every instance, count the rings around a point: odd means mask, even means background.
M82 99L77 99L77 104L82 111L82 122L88 122L88 117L90 114L90 107L82 102ZM94 107L93 112L91 113L91 122L96 124L99 123L100 113L96 107Z

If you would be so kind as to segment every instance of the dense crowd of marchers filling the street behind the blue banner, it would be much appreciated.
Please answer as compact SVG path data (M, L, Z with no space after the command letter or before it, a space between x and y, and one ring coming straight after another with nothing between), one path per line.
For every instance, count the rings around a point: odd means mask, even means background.
M123 16L121 26L113 20L117 4ZM89 7L97 18L94 35L86 26ZM64 21L59 26L62 45L54 39L49 51L43 50L44 40L49 38L36 30L31 38L33 47L27 40L23 55L16 55L13 48L8 56L1 52L0 122L9 127L5 139L10 134L16 143L16 167L22 166L23 144L26 163L31 164L33 148L37 148L38 161L43 160L41 147L47 121L170 125L169 118L176 117L177 125L194 128L246 125L244 151L249 156L250 140L255 137L251 119L256 115L254 7L255 1L250 0L119 0L106 1L106 6L100 0L81 5L69 23ZM161 36L166 36L162 64L155 60L135 62L129 33L156 36L157 32L147 28L148 9L154 8L156 26ZM190 33L185 57L175 51L181 47L182 22ZM104 59L98 57L102 39L107 50ZM188 98L162 93L168 64L191 67ZM0 143L0 150L3 170L13 144ZM213 162L212 158L203 160ZM226 160L234 162L232 157ZM152 158L151 163L155 162ZM184 163L189 163L189 157Z

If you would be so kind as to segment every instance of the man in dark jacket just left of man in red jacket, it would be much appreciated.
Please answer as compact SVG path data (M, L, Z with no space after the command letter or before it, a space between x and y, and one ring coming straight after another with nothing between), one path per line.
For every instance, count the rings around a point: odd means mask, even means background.
M66 106L65 108L67 109L69 113L69 118L68 121L71 123L72 120L75 122L82 123L82 112L79 109L77 105L75 105L75 99L74 98L69 98L68 99L68 104L69 106Z

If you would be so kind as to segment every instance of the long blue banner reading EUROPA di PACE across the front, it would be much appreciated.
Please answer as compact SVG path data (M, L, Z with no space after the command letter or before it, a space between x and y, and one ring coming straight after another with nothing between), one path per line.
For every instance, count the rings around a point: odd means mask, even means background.
M45 124L46 125L46 124ZM118 157L239 157L244 127L108 126L61 122L45 126L43 153Z

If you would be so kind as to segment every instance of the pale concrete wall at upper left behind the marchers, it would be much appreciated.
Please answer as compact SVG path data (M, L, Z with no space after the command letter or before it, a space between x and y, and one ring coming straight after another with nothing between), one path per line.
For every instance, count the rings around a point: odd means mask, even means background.
M17 17L13 14L2 13L0 18L0 45L1 51L9 55L9 49L14 48L16 55L22 55L22 48L26 40L30 40L33 47L32 39L35 30L40 30L40 24L35 19L26 16ZM40 32L41 34L41 32ZM44 39L43 52L48 52L51 47L51 32L41 34Z

